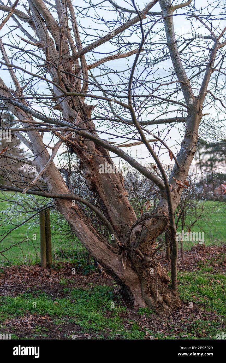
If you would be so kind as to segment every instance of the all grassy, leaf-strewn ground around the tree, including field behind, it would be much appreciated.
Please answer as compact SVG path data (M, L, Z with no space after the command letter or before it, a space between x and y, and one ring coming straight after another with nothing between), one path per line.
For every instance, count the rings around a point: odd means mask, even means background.
M14 198L13 193L11 195ZM30 213L21 211L15 217L11 212L15 204L4 198L1 194L2 237L30 216ZM35 266L39 262L38 216L32 223L16 228L0 243L0 251L4 251L0 257L1 265L5 266L0 269L0 334L12 334L12 339L205 340L216 339L217 334L225 331L225 247L220 247L226 235L223 204L204 202L204 218L192 231L204 231L206 247L200 248L207 252L202 255L201 250L194 249L185 254L185 262L186 258L189 259L191 268L187 264L185 268L181 265L178 268L182 306L165 318L148 309L128 309L114 280L99 278L93 263L87 265L79 242L73 244L70 236L65 234L67 225L57 220L53 212L51 215L54 217L53 251L65 250L64 255L58 253L54 256L53 269ZM191 221L193 218L191 214ZM26 242L18 244L25 238ZM17 245L8 249L12 244ZM218 246L210 253L212 247L207 247L210 245ZM189 242L186 246L184 244L184 249L193 246ZM76 248L78 253L75 253ZM201 258L194 262L197 256ZM67 261L66 265L63 259ZM75 275L71 273L72 268L76 269Z

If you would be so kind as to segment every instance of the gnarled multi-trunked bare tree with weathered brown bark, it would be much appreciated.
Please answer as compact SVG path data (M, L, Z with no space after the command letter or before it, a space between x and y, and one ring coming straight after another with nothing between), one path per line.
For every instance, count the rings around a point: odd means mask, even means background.
M1 4L0 9L8 13L2 24L10 19L16 27L5 34L10 44L0 41L2 69L9 70L14 83L7 86L1 80L0 97L17 118L13 131L32 151L32 164L38 170L23 192L33 193L38 178L44 178L48 193L36 193L54 198L79 240L126 288L135 307L163 311L180 305L174 214L183 189L189 187L186 178L205 115L208 123L209 112L204 109L213 103L215 108L225 107L224 2L196 8L192 0L182 4L152 0L140 10L135 1L127 9L110 0L96 5L28 0L25 12L19 5ZM174 30L179 17L190 22L186 36L178 37ZM194 34L197 24L205 35ZM22 35L16 34L18 29ZM175 130L178 139L181 134L176 154L168 146ZM45 133L59 139L52 156ZM155 164L157 173L123 150L128 142L131 147L145 146L148 162ZM62 143L79 158L98 208L70 192L53 162ZM169 178L162 162L164 153L174 161ZM159 190L157 207L139 219L113 162L115 156ZM98 213L114 243L94 228L81 203ZM172 289L156 257L156 238L167 227L172 240Z

